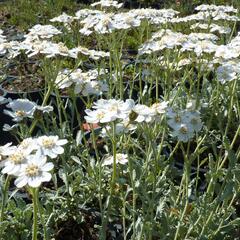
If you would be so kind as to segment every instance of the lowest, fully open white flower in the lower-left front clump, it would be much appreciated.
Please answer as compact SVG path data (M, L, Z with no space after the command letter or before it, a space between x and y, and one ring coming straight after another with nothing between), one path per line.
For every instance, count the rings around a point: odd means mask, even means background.
M15 180L15 185L21 188L28 185L37 188L42 182L49 182L51 174L49 171L53 169L53 163L47 163L47 157L39 154L27 157L27 162L22 165L21 171Z

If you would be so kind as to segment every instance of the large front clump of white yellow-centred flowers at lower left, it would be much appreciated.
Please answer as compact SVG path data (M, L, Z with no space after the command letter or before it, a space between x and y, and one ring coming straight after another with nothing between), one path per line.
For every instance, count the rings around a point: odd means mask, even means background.
M18 188L25 185L37 188L51 180L49 171L54 165L47 162L47 157L63 154L62 146L66 143L66 139L58 136L41 136L24 139L18 146L6 144L0 147L2 173L15 176Z

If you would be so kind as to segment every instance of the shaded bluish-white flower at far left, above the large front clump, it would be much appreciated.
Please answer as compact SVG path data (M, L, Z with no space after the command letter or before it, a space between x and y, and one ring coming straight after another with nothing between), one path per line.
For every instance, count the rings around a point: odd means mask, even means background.
M36 108L36 103L28 99L17 99L11 101L8 105L12 111L4 110L4 113L13 118L13 121L20 122L24 118L32 118Z

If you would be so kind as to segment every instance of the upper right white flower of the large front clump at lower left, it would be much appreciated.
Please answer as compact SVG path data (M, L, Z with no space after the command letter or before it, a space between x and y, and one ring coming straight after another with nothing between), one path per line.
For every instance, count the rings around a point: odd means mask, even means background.
M59 154L63 154L64 148L62 145L68 142L66 139L59 139L58 136L41 136L36 141L41 154L50 158L56 158Z

